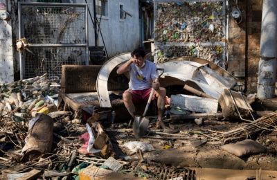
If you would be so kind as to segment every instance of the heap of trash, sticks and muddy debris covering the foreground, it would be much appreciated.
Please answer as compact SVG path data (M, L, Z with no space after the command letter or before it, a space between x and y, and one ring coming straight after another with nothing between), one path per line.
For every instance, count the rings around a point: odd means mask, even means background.
M276 147L264 137L257 139L259 143L247 140L222 146L260 131L270 132L276 113L234 129L234 123L219 118L222 113L208 117L178 111L174 116L177 110L168 107L164 123L170 129L158 129L153 116L148 134L137 139L127 123L114 122L111 117L100 121L96 113L76 119L73 111L57 109L59 89L46 75L3 84L0 89L0 179L195 179L194 170L172 159L184 152L202 156L202 147L204 151L217 147L235 156ZM250 146L251 152L242 153ZM193 161L202 163L201 158Z

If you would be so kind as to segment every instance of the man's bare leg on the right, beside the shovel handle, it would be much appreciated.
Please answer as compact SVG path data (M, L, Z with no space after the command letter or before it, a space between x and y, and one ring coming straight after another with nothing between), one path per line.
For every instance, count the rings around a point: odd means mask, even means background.
M158 118L157 118L157 125L161 126L163 129L167 129L166 125L163 123L163 111L166 105L166 89L160 87L156 90L156 97L157 97L157 107L158 107Z

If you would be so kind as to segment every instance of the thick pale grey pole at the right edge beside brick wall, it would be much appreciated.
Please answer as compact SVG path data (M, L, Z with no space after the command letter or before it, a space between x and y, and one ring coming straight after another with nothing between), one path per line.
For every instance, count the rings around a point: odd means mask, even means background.
M260 35L260 62L257 96L274 98L276 81L276 24L277 1L264 0L262 4L262 33Z

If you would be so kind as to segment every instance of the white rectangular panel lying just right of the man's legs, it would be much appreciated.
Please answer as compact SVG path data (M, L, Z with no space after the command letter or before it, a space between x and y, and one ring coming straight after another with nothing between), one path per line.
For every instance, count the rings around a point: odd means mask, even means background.
M202 98L179 94L177 96L171 96L170 107L202 113L216 113L218 102L217 100L213 100L211 98Z

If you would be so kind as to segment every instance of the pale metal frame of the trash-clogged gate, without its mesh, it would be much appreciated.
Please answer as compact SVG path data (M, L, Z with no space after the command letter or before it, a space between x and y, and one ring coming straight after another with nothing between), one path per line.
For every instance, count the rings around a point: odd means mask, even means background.
M226 31L226 0L154 0L154 30L156 28L156 17L157 17L157 4L158 3L175 3L175 2L222 2L222 15L224 17L223 20L223 29L224 37L222 39L226 39L227 31ZM156 35L154 34L154 39ZM226 43L225 42L201 42L199 44L188 42L188 43L174 43L174 42L167 42L166 44L163 42L157 42L154 40L154 46L193 46L193 45L200 45L200 46L223 46L223 53L222 53L222 64L224 66L226 62ZM157 63L157 52L154 52L154 62ZM225 69L224 67L222 67Z

